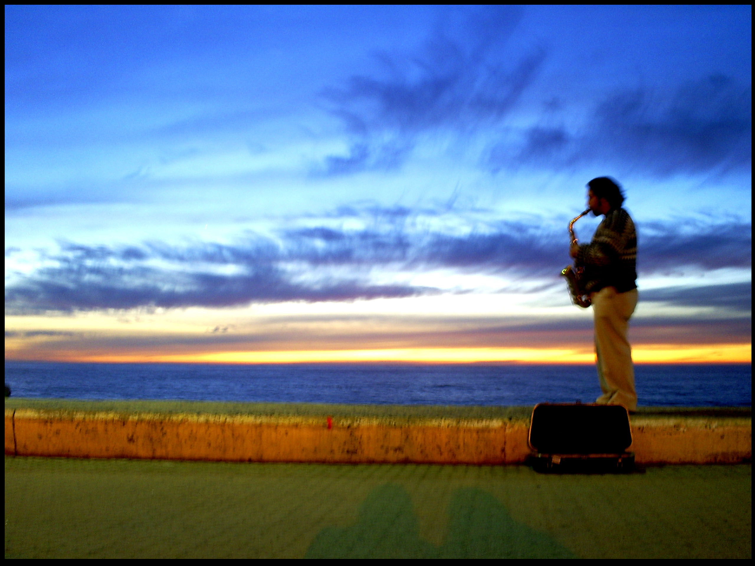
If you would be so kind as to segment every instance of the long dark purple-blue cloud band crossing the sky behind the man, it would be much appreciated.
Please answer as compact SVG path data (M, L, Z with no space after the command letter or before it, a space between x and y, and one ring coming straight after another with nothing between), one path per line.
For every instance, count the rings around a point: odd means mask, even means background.
M380 218L378 213L369 214ZM57 254L45 257L47 266L6 286L6 311L230 307L439 292L398 280L376 285L371 272L381 268L408 274L430 269L505 274L515 281L512 285L519 285L510 290L522 291L522 282L542 290L562 285L558 273L570 263L563 230L548 228L542 219L476 223L463 234L448 234L417 229L404 210L387 209L385 217L386 222L362 229L308 226L283 229L274 238L250 232L233 245L153 241L93 246L63 241ZM638 231L641 278L684 269L750 266L749 224L674 220L639 226ZM741 285L655 290L646 300L743 310L749 308L749 290Z

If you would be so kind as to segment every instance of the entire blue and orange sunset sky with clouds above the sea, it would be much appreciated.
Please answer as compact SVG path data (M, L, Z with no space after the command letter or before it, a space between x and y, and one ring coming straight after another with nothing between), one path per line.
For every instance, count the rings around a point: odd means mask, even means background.
M750 6L6 6L5 357L751 360ZM575 225L589 241L599 223Z

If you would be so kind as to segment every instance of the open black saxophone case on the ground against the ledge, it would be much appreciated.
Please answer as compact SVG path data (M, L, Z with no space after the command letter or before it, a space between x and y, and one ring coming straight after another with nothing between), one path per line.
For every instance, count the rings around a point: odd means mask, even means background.
M530 463L539 472L629 472L634 454L621 405L540 403L529 426Z

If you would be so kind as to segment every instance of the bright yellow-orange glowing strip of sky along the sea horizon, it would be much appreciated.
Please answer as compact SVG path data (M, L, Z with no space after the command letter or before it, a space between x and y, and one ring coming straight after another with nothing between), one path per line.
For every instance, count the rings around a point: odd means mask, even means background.
M751 344L655 344L633 348L636 364L747 364L752 363ZM6 357L6 359L14 359ZM26 358L28 359L28 358ZM293 364L316 362L425 362L464 364L512 362L520 364L593 364L595 354L587 349L567 348L405 348L297 350L270 352L197 352L191 354L78 354L56 355L46 361L103 363L210 363L210 364Z

